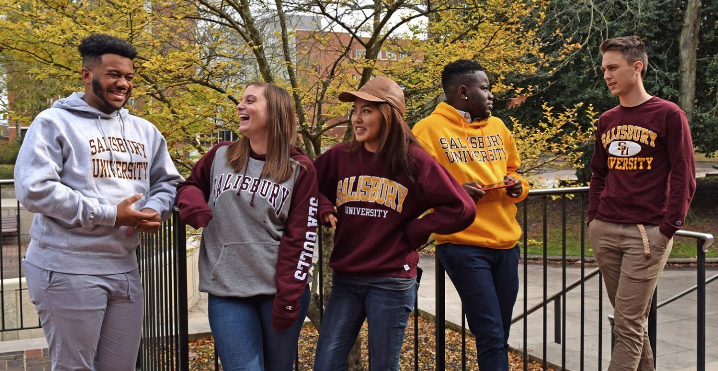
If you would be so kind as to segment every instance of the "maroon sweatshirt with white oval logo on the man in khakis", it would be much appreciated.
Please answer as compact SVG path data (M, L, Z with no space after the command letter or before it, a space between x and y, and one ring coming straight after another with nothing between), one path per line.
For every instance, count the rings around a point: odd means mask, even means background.
M658 225L673 237L696 190L686 114L658 97L606 111L598 120L591 171L589 222Z

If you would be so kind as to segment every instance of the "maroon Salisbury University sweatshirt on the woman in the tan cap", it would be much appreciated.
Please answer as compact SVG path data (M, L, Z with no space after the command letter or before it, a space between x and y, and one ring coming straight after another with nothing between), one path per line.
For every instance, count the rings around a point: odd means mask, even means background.
M421 147L411 145L409 151L414 182L389 174L363 146L350 153L349 144L340 143L314 161L319 215L337 208L329 262L336 273L414 277L416 249L431 233L456 233L474 220L476 204L454 177Z

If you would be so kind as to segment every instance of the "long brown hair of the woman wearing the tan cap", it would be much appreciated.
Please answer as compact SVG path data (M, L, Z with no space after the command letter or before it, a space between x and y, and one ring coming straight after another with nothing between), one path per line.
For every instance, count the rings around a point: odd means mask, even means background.
M409 146L419 145L416 136L411 128L404 121L401 112L388 103L375 103L381 112L381 138L376 151L376 159L381 162L389 174L405 174L414 182L414 174L411 172L412 160L409 156ZM364 144L352 136L350 152L359 151Z

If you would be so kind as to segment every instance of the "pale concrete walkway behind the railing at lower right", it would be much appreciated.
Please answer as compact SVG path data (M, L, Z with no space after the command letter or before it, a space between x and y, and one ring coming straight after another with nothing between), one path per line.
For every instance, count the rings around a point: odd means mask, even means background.
M419 287L419 309L429 313L435 313L436 302L435 292L435 270L434 257L422 255L419 266L424 268L424 276L421 278ZM587 266L585 273L588 274L595 266ZM560 264L548 265L548 295L561 291ZM518 316L523 313L523 263L519 265L520 287L518 300L514 306L513 314ZM541 303L544 297L542 264L528 264L528 308L534 304ZM707 277L718 273L718 268L709 268ZM580 266L567 267L567 284L580 278ZM446 313L447 321L454 324L461 324L461 301L454 286L445 276L446 282ZM676 293L696 283L695 268L666 268L658 286L658 302L668 299ZM610 324L607 315L612 314L610 301L608 301L603 290L603 323L599 327L599 286L598 278L587 281L584 287L584 370L598 370L599 357L602 358L602 370L607 370L610 360ZM684 296L678 301L663 306L658 310L658 354L657 370L695 370L696 366L696 293ZM718 370L718 283L709 284L706 288L706 370ZM580 287L567 293L567 349L566 367L567 370L580 370L580 328L581 328L581 291ZM528 316L528 350L539 358L543 358L543 309L539 309ZM547 316L547 357L546 359L561 365L561 344L554 343L554 304L546 308ZM602 334L602 356L598 353L599 332ZM511 327L509 343L516 349L523 349L523 320L518 321Z

